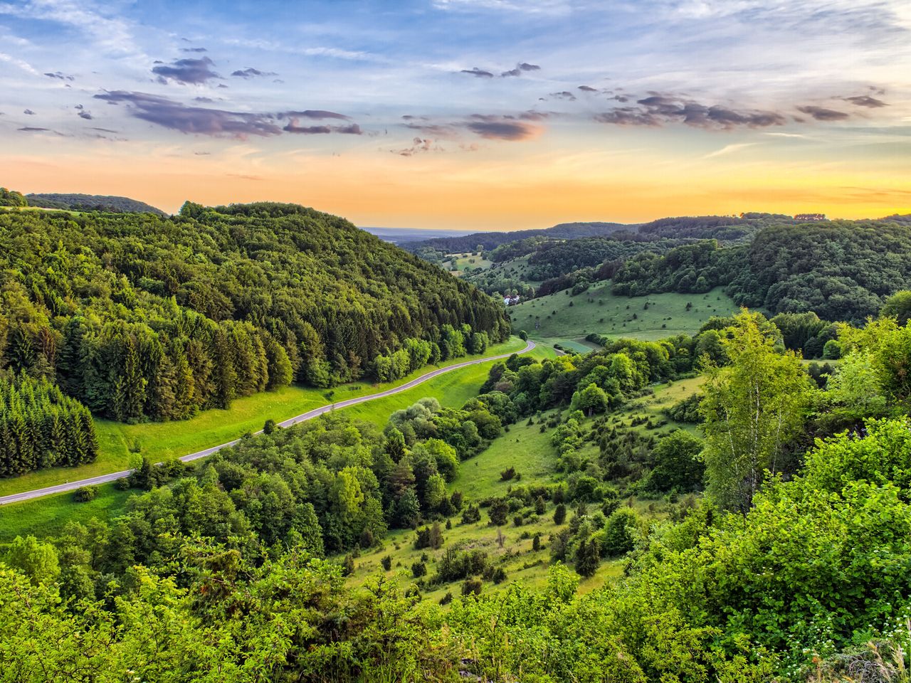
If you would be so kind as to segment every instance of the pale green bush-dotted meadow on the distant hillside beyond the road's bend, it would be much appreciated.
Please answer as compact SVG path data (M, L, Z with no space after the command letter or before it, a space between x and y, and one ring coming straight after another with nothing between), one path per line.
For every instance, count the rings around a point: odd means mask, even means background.
M690 311L686 310L688 303ZM610 283L606 282L576 296L569 296L564 290L523 301L510 307L509 314L513 329L527 331L532 339L581 351L578 345L586 343L589 332L654 341L674 334L691 334L711 316L736 311L738 307L721 288L706 294L630 298L610 293Z

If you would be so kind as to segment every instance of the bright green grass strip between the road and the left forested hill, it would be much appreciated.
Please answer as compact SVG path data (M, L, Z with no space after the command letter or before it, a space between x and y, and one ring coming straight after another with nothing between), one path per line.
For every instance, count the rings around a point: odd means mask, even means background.
M508 342L491 346L484 356L514 352L524 347L525 342L513 337ZM206 411L191 420L180 422L124 424L97 420L96 431L100 453L94 463L79 467L56 467L10 479L0 479L0 495L16 494L44 486L63 484L67 481L87 479L98 474L120 472L136 466L143 455L160 461L170 456L179 457L195 453L219 443L232 441L244 433L257 432L262 429L262 424L267 419L271 418L275 422L281 422L327 403L382 392L409 382L435 367L445 367L447 364L464 361L466 358L457 358L451 362L427 366L396 382L344 384L333 389L331 398L325 389L290 386L275 392L261 392L246 396L231 403L228 410ZM486 377L486 364L476 366L476 369L483 369L478 372L484 372ZM444 377L448 377L448 375L444 375ZM481 382L483 381L481 380ZM415 389L418 392L421 391L421 387ZM375 410L374 403L364 403L363 406L358 407L363 407L366 411ZM131 450L137 453L131 453Z

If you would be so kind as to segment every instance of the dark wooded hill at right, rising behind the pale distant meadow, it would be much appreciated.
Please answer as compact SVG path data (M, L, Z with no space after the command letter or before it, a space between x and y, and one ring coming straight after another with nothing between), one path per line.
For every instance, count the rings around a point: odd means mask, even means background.
M726 285L743 306L859 323L911 285L909 256L911 231L896 221L776 225L749 246L707 240L634 256L613 273L613 291L701 293Z

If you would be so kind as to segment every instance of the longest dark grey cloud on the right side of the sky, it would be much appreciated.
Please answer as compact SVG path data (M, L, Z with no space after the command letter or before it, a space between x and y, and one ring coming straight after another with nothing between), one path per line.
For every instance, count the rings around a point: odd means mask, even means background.
M626 102L626 97L613 99ZM636 101L640 107L616 107L599 114L595 120L617 126L656 127L682 123L708 130L731 130L736 127L783 126L786 119L773 111L740 111L722 105L703 105L692 100L653 93Z

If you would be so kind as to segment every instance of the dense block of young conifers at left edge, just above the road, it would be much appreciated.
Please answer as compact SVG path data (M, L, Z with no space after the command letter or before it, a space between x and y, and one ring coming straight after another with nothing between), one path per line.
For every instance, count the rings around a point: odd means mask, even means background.
M0 476L91 463L97 453L84 405L46 380L0 375Z

